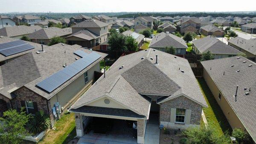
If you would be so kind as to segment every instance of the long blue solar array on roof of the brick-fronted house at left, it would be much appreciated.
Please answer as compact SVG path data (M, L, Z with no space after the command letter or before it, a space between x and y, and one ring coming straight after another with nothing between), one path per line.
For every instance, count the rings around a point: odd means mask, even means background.
M76 51L77 52L77 51ZM97 54L96 52L91 52L87 54L83 51L79 52L80 56L82 57L76 62L66 66L64 69L50 75L48 78L45 78L43 81L36 84L40 88L44 89L47 92L52 92L54 89L58 88L70 78L81 72L91 63L96 61L101 57L101 55Z

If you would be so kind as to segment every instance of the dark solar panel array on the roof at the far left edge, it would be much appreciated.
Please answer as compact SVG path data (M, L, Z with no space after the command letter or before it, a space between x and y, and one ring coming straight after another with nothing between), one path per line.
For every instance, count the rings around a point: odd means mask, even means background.
M0 44L0 53L4 56L14 55L20 52L27 51L29 49L34 49L34 46L24 42L23 40L11 41L8 43Z

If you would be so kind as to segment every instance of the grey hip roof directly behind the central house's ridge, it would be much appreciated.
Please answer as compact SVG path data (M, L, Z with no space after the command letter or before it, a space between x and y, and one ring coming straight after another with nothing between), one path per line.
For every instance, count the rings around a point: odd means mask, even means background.
M151 48L158 48L158 47L170 47L173 46L174 48L187 48L185 41L177 37L176 35L167 34L165 32L161 32L160 34L154 36L149 43L148 47Z

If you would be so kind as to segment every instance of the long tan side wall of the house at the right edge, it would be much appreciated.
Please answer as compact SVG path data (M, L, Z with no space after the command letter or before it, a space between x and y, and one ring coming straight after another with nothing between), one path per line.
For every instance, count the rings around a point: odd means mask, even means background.
M226 116L230 126L232 128L241 128L242 130L245 130L243 124L241 123L236 113L233 111L232 107L227 102L226 98L223 96L222 93L221 93L221 100L218 99L218 95L220 91L205 69L203 70L203 77L209 89L211 90L212 94L214 95L215 100L217 101L218 105L221 107L222 112Z

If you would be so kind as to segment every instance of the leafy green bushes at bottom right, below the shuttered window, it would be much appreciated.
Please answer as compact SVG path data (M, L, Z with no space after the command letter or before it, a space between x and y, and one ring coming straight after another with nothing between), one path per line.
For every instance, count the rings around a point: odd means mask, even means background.
M182 132L189 144L229 144L227 133L219 134L214 127L189 127Z

